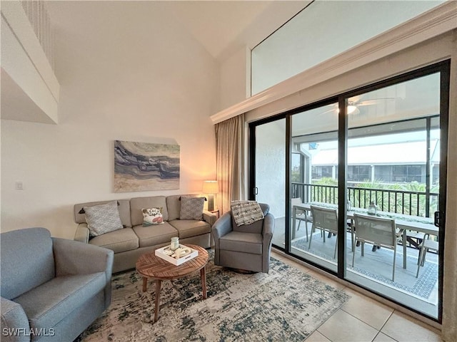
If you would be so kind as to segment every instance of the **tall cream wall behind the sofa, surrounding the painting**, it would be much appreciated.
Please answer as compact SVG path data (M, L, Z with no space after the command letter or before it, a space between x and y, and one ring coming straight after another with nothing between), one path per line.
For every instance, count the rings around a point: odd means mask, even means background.
M61 14L59 125L1 120L2 232L42 226L72 238L76 203L201 192L216 175L214 59L146 4L118 17L110 9L124 2L84 3ZM179 144L180 189L114 193L114 140Z

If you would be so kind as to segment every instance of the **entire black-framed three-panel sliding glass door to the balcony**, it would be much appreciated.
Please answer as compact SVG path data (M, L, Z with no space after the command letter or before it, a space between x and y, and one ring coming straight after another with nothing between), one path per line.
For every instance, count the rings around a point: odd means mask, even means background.
M437 321L448 66L250 125L251 198L271 205L273 245Z

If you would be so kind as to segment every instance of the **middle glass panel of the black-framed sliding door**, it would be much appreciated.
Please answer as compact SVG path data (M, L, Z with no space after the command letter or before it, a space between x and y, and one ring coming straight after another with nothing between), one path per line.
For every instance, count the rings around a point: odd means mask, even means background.
M291 162L300 157L301 170L297 170L297 163L291 163L289 250L298 257L336 272L338 103L293 113L291 136ZM297 180L296 175L302 175L301 179ZM326 227L316 224L316 219L313 219L309 206L314 202L321 202L321 207L333 210L324 212L326 216L323 219L328 221ZM303 209L305 205L307 207Z

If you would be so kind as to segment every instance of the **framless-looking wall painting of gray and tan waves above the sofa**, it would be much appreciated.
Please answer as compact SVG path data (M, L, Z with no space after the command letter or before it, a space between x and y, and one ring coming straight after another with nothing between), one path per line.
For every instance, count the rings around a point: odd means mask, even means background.
M114 141L114 192L179 189L179 145Z

